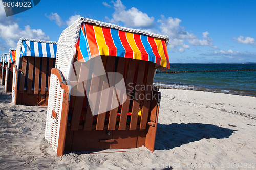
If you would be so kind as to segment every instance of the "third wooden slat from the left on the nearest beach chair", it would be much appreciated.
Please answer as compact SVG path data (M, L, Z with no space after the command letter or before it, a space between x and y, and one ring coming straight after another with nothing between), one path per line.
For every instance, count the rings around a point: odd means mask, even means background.
M105 68L105 72L110 72L111 65L108 64L108 66L107 66L108 57L102 56L101 59L102 59L103 66ZM105 79L106 79L106 75L102 76L102 80L101 80L101 81L103 81L102 90L109 88L109 83L104 81ZM101 96L100 96L99 108L101 108L102 105L104 105L106 102L108 102L108 99L109 99L109 96L102 94L102 90L100 91ZM97 123L96 123L96 130L103 130L104 129L105 116L106 116L106 112L98 114Z

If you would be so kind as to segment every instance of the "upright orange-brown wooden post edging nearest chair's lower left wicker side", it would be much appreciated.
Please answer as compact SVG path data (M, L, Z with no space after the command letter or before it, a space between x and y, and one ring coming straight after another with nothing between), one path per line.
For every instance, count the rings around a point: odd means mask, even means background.
M64 89L63 95L63 104L61 109L61 117L60 118L60 127L59 127L59 139L58 139L58 149L57 155L61 156L64 153L65 148L65 139L66 139L66 131L67 131L67 122L68 122L68 113L69 113L69 86L66 84L61 84L61 88Z

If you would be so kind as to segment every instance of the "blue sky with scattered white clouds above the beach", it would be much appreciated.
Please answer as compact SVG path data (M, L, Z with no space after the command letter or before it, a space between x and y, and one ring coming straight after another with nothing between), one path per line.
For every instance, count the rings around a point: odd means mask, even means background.
M6 17L0 54L20 37L58 41L79 17L168 35L171 63L256 62L256 1L48 1Z

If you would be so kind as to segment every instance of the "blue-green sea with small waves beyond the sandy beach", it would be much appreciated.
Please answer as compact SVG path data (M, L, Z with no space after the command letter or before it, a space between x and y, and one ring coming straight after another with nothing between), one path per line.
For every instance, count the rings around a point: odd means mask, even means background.
M178 72L256 70L256 63L170 63L166 73L157 71L154 84L166 88L221 92L256 96L256 71Z

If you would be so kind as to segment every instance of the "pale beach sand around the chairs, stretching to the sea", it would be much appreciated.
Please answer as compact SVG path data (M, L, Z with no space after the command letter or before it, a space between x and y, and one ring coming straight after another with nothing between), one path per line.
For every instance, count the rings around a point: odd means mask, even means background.
M46 109L15 106L3 91L0 169L256 169L255 97L160 89L153 153L140 147L57 157L44 140Z

